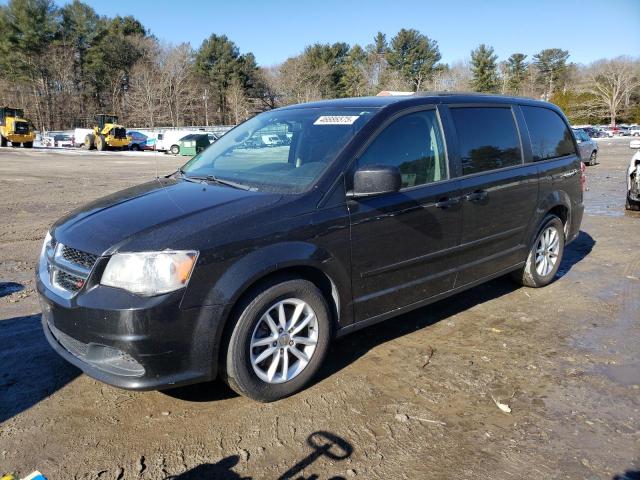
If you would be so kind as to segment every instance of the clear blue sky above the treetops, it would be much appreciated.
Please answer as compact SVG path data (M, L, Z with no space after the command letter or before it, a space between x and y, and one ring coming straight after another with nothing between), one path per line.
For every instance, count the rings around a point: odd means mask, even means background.
M86 0L85 0L86 1ZM57 0L62 5L66 2ZM543 48L569 50L570 61L640 56L640 0L109 0L87 1L100 14L134 15L158 38L198 47L225 34L273 65L314 42L370 43L415 28L438 41L443 61L469 56L480 43L501 59Z

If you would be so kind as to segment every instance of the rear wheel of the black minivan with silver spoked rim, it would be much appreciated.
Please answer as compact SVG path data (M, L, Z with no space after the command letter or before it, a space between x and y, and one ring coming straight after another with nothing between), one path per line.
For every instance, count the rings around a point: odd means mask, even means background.
M562 262L564 253L564 224L555 215L547 215L538 231L527 261L512 277L527 287L544 287L550 284Z

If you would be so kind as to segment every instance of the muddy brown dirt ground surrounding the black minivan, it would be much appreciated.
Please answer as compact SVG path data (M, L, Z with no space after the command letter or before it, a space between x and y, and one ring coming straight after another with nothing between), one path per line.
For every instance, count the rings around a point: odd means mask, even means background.
M182 159L0 149L0 474L637 479L640 215L624 211L628 140L600 144L552 285L498 279L345 337L312 386L266 405L221 382L118 390L41 331L33 271L49 225Z

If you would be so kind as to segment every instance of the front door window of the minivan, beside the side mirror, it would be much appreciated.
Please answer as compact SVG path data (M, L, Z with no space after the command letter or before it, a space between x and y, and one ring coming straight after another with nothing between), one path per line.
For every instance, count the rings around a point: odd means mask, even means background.
M362 165L393 165L402 187L447 178L447 159L435 110L411 113L391 123L358 160Z

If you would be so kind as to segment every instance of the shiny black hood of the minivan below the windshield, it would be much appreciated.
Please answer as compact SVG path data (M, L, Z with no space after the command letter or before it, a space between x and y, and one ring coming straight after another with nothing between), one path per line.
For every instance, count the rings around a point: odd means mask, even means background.
M180 223L172 239L155 239L165 242L163 249L174 248L183 233L193 235L197 229L269 207L280 198L279 194L162 178L74 210L58 220L51 233L58 242L101 255L116 251L133 239L152 238L155 231L166 232L163 227ZM202 224L202 214L206 214L207 225Z

